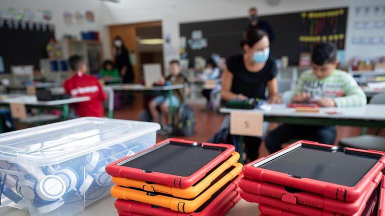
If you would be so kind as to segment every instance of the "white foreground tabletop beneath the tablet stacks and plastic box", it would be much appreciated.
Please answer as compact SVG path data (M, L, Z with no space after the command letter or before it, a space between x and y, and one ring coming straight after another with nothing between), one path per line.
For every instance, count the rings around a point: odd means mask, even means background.
M116 216L114 206L115 198L108 196L105 197L91 205L87 206L85 211L79 213L78 216ZM9 210L2 212L2 216L29 216L30 214L27 211L19 210L16 208L10 208ZM238 204L236 204L226 216L258 216L258 204L249 203L241 199ZM159 215L161 216L161 215Z

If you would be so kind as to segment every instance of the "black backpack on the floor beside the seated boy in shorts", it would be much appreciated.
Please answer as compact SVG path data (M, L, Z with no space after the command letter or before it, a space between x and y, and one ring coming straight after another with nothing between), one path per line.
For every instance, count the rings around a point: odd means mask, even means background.
M174 135L190 136L195 133L196 117L194 109L183 103L178 109L178 122L175 125Z

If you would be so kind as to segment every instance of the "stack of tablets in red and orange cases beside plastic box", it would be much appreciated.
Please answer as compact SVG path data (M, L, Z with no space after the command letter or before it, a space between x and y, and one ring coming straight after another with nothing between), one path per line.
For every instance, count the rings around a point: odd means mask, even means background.
M119 215L224 215L241 199L234 150L172 138L109 164Z

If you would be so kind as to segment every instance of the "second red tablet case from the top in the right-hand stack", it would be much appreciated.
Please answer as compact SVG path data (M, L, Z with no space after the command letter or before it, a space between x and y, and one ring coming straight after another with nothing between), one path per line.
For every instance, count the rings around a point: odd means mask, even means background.
M382 174L379 172L371 184L366 187L367 192L371 193L378 185L381 178ZM364 196L359 197L354 202L343 202L305 191L288 192L285 190L284 186L267 182L254 181L246 177L242 177L240 179L239 186L246 192L255 193L257 195L273 196L275 198L281 199L283 202L290 204L309 205L311 207L321 208L325 211L341 214L353 214L359 210L359 208L362 206L362 203L366 202L366 200L364 200Z

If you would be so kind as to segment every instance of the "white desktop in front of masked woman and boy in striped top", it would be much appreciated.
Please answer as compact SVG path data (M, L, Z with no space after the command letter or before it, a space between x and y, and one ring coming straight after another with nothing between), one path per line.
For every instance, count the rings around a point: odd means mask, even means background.
M296 112L295 108L288 108L285 104L266 105L269 109L231 109L221 108L220 112L230 113L231 111L263 112L265 116L281 117L312 117L312 118L334 118L334 119L359 119L359 120L385 120L385 105L367 104L355 107L327 107L320 108L319 112ZM336 114L328 114L327 111L336 111Z

